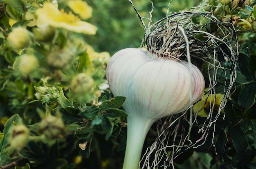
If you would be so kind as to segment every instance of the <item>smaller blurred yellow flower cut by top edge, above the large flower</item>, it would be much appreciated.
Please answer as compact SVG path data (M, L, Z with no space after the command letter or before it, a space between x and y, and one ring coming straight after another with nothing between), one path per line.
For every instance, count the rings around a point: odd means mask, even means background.
M70 0L67 5L84 20L92 17L92 7L82 0Z

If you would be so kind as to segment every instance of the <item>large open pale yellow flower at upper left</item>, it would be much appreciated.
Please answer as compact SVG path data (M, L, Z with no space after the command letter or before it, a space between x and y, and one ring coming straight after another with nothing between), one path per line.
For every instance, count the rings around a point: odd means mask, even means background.
M42 8L36 10L36 25L42 27L49 25L56 28L63 28L77 33L85 33L95 35L97 27L81 21L77 16L65 13L64 10L59 11L54 4L45 2Z

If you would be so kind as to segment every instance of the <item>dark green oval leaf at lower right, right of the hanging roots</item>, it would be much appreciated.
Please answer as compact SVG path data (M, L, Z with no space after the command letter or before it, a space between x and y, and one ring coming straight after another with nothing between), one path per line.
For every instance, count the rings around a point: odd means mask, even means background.
M231 137L234 148L239 153L244 153L248 148L248 140L243 130L238 126L229 126L228 134Z

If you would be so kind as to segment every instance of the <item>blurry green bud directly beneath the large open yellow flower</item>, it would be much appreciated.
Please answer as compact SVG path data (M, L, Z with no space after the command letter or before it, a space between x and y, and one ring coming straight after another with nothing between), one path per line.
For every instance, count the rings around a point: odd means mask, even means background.
M55 34L55 28L51 26L43 26L40 28L34 28L33 33L35 36L35 39L39 42L51 42L54 34Z

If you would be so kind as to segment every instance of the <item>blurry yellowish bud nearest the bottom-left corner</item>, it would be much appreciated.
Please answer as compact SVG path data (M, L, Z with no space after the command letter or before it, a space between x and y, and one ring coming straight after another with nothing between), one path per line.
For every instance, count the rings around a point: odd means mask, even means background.
M11 130L9 142L11 147L21 150L29 140L29 129L25 125L16 125Z

